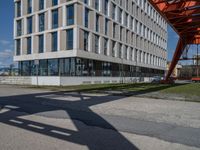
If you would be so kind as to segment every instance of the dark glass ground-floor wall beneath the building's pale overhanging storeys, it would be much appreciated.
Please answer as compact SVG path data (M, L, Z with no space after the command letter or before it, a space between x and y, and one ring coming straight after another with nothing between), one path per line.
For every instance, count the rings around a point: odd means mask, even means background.
M164 70L136 67L118 63L83 58L60 58L19 62L21 76L105 76L105 77L152 77L163 76Z

